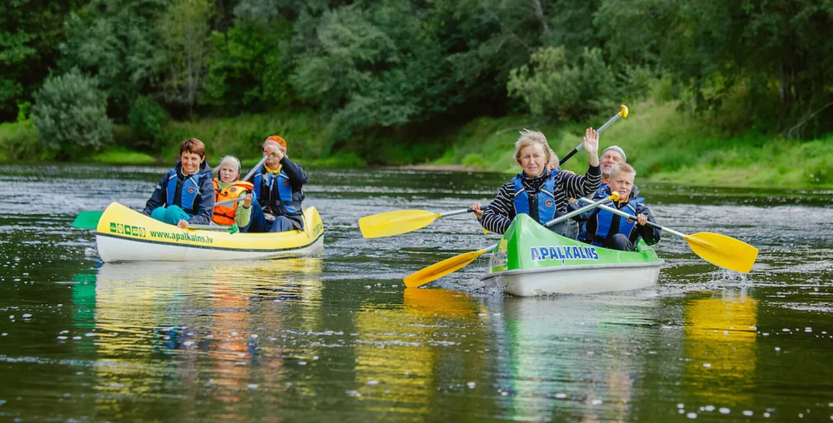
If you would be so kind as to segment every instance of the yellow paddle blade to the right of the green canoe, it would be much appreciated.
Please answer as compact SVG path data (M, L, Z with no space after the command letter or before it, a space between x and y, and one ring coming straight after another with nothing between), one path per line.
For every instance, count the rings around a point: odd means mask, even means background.
M731 271L749 273L758 256L756 247L719 233L697 232L686 235L686 241L697 256Z

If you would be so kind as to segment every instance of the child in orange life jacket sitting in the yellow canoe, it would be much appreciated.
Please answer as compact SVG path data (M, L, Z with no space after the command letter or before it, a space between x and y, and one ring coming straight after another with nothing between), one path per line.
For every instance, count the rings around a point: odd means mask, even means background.
M214 178L216 192L214 203L236 198L243 198L242 204L236 202L225 206L215 206L212 221L217 225L231 226L237 223L241 231L246 231L252 221L252 182L238 181L240 177L240 161L237 157L226 156L217 167L219 177Z

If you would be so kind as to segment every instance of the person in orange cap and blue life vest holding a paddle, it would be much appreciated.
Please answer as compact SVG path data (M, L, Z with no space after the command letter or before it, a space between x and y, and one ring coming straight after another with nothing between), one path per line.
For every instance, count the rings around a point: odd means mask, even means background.
M252 179L254 196L249 232L283 232L303 229L303 186L307 174L287 156L287 141L277 135L263 142L268 156ZM257 204L257 207L255 207Z

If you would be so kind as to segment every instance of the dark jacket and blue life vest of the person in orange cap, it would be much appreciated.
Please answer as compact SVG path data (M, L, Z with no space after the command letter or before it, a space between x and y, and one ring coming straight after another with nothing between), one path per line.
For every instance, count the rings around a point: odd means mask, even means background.
M277 176L266 170L266 165L255 171L252 177L252 184L255 186L254 197L264 213L275 216L287 216L296 224L298 229L303 229L304 198L303 186L307 183L307 173L301 165L292 162L289 157L281 159L281 172Z

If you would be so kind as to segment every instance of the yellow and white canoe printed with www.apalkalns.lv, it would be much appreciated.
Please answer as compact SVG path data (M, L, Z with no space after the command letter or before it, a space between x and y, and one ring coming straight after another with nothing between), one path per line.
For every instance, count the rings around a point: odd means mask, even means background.
M315 207L304 210L304 230L235 233L180 229L112 203L96 228L102 261L220 261L320 254L324 224Z

